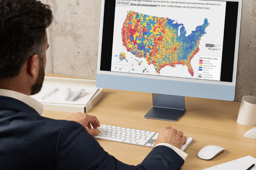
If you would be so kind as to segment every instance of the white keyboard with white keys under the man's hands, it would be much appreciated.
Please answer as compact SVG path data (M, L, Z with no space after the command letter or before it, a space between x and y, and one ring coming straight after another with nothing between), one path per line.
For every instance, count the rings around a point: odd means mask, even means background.
M122 128L105 124L100 124L98 130L100 130L101 133L99 135L95 135L95 139L128 143L151 148L153 148L159 134L156 132L141 131L138 129ZM188 137L186 144L183 145L181 150L185 151L191 145L191 143L193 143L193 141L194 138Z

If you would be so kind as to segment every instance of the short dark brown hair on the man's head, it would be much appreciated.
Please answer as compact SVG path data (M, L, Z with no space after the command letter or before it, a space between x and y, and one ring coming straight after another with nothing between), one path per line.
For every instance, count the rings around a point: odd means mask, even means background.
M52 20L49 5L40 1L0 0L0 80L16 77L34 54L44 61Z

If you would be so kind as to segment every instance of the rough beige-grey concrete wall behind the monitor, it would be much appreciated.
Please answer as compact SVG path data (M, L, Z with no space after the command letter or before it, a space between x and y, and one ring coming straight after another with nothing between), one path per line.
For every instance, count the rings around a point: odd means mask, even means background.
M42 0L54 13L47 29L46 72L96 80L101 0ZM256 96L256 1L243 0L235 101Z

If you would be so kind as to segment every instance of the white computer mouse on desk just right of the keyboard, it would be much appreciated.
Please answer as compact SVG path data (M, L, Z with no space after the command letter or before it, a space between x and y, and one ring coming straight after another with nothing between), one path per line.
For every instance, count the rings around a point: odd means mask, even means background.
M201 159L208 160L208 159L211 159L214 156L218 155L219 153L223 152L224 150L225 150L225 148L222 148L219 146L208 145L198 152L198 156Z

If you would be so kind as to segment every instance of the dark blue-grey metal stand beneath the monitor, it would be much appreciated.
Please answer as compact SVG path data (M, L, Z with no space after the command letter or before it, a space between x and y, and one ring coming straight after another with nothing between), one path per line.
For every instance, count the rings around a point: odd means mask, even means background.
M152 93L153 107L144 116L146 119L176 122L186 111L184 96Z

